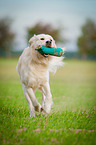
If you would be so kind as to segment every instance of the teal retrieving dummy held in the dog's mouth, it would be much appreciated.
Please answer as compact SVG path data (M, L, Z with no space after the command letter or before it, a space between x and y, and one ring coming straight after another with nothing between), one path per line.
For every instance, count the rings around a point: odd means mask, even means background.
M63 55L63 50L61 48L39 46L36 47L35 50L40 52L45 57L47 57L48 55L60 57Z

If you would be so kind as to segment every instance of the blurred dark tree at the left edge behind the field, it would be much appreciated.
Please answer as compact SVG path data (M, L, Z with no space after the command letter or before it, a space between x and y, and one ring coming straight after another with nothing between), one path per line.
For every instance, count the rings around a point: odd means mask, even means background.
M15 33L11 30L12 20L10 18L0 19L0 52L10 56L14 45Z

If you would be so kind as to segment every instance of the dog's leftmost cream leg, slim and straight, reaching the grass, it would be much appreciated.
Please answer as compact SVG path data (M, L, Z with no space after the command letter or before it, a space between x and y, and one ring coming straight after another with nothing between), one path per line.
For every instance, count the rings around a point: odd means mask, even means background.
M33 107L32 101L31 101L28 91L24 85L23 85L23 92L24 92L26 100L28 101L30 117L32 117L32 116L35 117L35 112L34 112L34 107Z

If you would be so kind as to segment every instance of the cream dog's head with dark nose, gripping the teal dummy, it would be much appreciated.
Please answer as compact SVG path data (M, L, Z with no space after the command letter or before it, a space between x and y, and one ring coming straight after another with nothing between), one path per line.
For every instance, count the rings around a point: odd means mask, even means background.
M45 57L44 55L40 54L38 51L35 50L36 47L39 46L46 46L46 47L56 47L55 40L50 36L46 34L39 34L34 35L29 40L29 47L32 50L32 58L36 61L43 61L43 60L50 60L51 56Z

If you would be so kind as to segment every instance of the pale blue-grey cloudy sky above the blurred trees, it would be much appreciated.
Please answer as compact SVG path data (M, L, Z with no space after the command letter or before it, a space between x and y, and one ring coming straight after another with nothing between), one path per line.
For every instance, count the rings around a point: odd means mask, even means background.
M0 0L0 18L13 20L17 49L27 46L26 29L37 22L63 27L62 37L68 51L77 50L76 40L86 19L96 22L96 0Z

